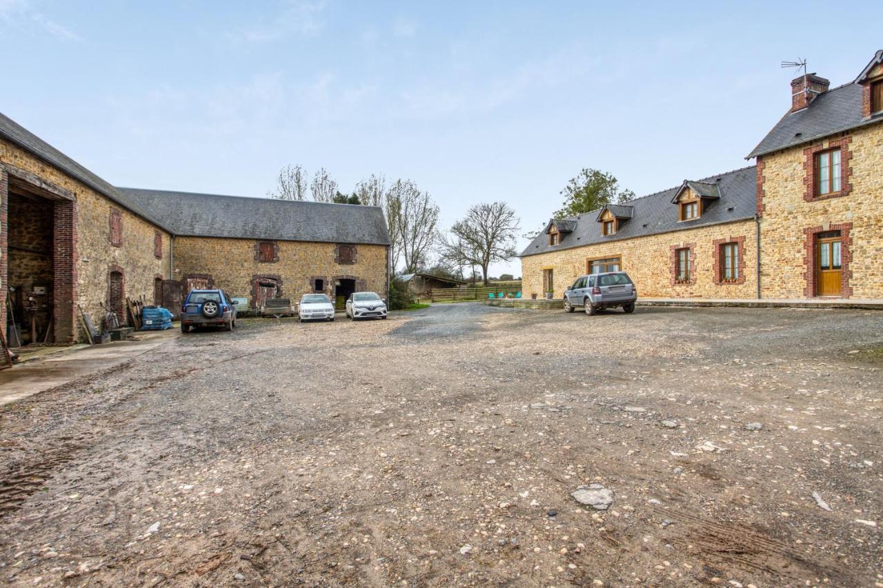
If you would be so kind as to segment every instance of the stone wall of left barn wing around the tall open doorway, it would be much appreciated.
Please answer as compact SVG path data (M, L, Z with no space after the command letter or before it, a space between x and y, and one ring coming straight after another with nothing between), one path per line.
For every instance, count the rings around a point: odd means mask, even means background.
M61 170L57 170L46 162L28 154L19 147L0 139L0 163L15 166L26 170L43 181L56 185L71 192L76 197L74 206L60 204L57 208L57 222L61 224L65 218L74 219L74 232L62 243L58 239L56 254L62 253L74 258L70 264L70 275L56 275L56 280L69 281L64 285L65 290L74 292L68 299L69 306L62 308L57 300L57 313L59 309L64 316L57 316L57 322L64 325L65 322L75 328L74 337L82 339L85 334L79 328L77 305L90 313L96 325L100 324L103 317L101 303L107 304L109 268L122 268L125 273L125 296L137 298L144 296L148 301L154 298L154 280L156 275L169 277L170 268L170 236L164 230L159 230L154 224L134 215L117 203L95 192L87 185L78 180L68 177ZM122 218L122 241L119 246L110 244L110 215L111 209L121 212ZM8 223L15 223L11 217ZM155 235L161 234L162 255L155 256ZM2 242L2 239L0 239ZM73 249L68 253L66 243L73 243ZM6 251L0 252L4 258ZM0 276L3 287L6 285L6 276ZM58 295L58 291L57 291ZM72 299L70 299L72 298ZM67 314L70 316L66 316ZM64 343L64 342L59 342Z

